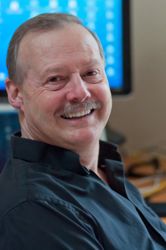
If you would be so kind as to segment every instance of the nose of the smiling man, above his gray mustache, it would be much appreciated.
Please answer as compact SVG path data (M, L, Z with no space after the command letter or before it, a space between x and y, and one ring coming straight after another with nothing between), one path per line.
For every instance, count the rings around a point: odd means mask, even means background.
M79 74L73 74L68 82L67 100L69 102L83 102L91 96L86 82Z

